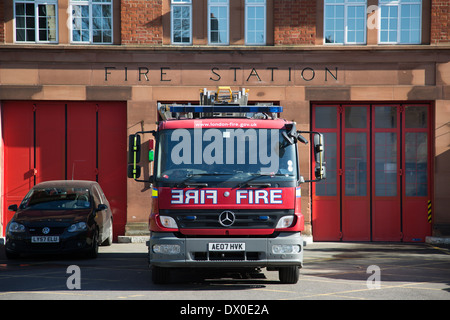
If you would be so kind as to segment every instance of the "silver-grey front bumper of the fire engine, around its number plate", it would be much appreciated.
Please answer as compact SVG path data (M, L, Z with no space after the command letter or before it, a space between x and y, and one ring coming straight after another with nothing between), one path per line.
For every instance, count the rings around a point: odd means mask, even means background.
M245 251L209 251L209 243L244 243ZM179 246L170 254L155 253L154 245ZM274 245L299 247L298 253L273 253ZM177 238L172 233L152 233L149 264L157 267L255 267L279 268L303 265L300 232L280 233L276 238Z

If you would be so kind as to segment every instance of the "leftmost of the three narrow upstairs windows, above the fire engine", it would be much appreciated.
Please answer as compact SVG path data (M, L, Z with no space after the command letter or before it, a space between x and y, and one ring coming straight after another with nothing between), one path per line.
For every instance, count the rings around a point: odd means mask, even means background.
M192 44L192 2L172 0L172 44Z

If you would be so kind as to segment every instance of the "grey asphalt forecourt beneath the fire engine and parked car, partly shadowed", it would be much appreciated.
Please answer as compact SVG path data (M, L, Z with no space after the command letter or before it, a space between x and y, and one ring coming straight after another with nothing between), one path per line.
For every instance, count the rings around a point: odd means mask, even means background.
M0 300L190 300L190 307L192 301L247 305L258 300L259 308L276 300L450 300L450 251L429 244L308 244L296 285L280 284L277 272L265 270L251 279L187 270L171 284L154 285L147 247L139 243L100 247L94 260L7 260L3 249Z

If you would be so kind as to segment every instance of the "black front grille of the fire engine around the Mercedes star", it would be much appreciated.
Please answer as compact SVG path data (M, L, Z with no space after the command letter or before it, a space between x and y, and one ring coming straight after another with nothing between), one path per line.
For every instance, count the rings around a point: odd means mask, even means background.
M293 215L294 210L234 210L235 221L223 226L219 216L223 210L159 210L160 215L174 218L183 229L274 229L282 216Z

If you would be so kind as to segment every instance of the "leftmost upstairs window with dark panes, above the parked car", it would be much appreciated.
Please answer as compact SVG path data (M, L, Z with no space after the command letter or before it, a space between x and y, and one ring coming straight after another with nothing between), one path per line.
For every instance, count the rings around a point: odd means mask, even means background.
M14 1L15 41L57 43L57 11L56 0Z

